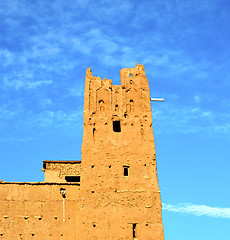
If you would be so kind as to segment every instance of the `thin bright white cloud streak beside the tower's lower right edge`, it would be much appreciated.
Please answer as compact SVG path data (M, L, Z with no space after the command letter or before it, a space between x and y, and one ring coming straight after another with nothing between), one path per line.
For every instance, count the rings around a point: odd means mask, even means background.
M206 205L195 205L190 203L180 203L177 205L163 203L162 210L167 212L192 214L195 216L230 219L230 208L210 207Z

